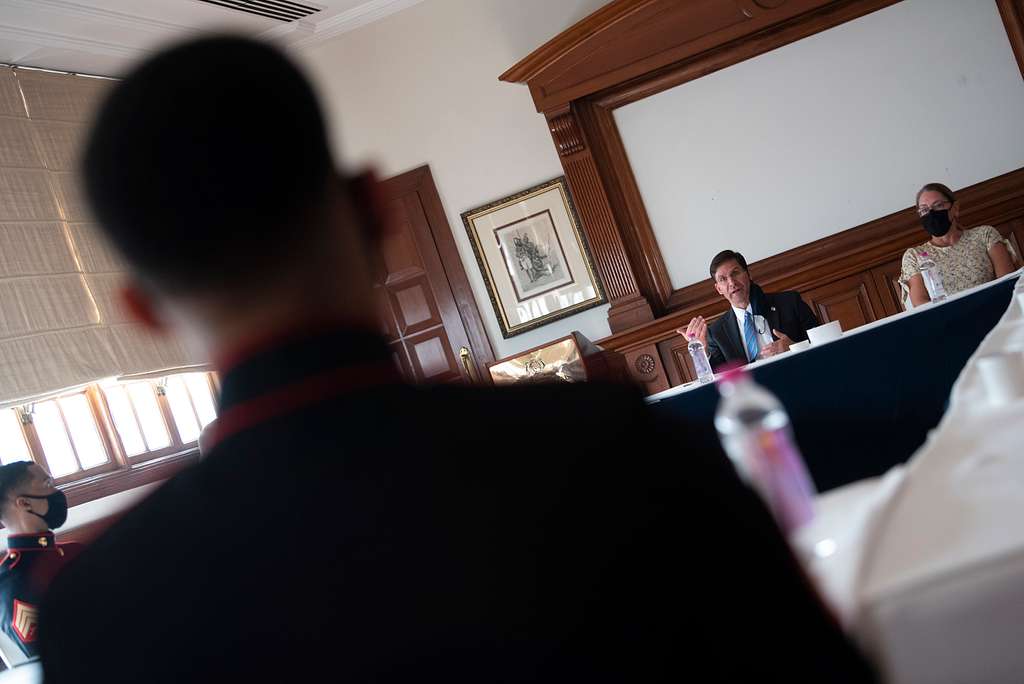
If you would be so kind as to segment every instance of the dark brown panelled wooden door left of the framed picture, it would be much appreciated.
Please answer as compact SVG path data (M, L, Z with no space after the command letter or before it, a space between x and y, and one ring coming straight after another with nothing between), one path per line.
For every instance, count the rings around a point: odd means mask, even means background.
M395 364L410 382L488 382L494 352L430 168L383 190L391 226L375 287Z

